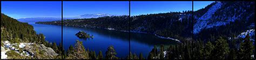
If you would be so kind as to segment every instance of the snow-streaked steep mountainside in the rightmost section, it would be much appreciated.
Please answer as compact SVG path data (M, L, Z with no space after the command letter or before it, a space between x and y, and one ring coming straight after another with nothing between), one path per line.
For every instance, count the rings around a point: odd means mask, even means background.
M254 2L214 2L196 12L194 34L200 33L202 29L230 24L235 20L248 21L254 16Z

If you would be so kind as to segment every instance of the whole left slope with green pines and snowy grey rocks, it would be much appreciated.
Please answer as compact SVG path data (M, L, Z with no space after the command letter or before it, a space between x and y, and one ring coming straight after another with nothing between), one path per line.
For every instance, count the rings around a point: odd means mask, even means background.
M50 46L33 26L1 13L1 59L56 58Z

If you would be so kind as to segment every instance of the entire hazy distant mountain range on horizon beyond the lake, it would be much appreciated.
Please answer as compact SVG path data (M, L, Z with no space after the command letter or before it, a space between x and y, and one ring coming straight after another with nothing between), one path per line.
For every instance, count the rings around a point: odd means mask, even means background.
M105 16L113 16L107 13L97 13L97 14L83 14L78 17L64 17L63 19L85 19L85 18L98 18L98 17L105 17ZM62 20L62 18L53 18L53 17L37 17L37 18L21 18L17 19L21 22L38 22L38 21L57 21Z

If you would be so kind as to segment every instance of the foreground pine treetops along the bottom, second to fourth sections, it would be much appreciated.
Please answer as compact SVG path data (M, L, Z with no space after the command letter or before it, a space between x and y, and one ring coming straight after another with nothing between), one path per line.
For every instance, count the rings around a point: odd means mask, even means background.
M237 43L239 42L239 43ZM239 45L238 45L239 44ZM237 47L238 45L238 47ZM64 57L66 59L252 59L254 46L250 36L246 35L244 39L227 40L219 37L216 41L203 43L203 41L186 41L184 43L171 45L169 48L154 46L147 58L140 53L137 56L130 52L124 57L116 57L117 53L113 46L109 46L105 52L90 51L85 49L82 41L69 47Z

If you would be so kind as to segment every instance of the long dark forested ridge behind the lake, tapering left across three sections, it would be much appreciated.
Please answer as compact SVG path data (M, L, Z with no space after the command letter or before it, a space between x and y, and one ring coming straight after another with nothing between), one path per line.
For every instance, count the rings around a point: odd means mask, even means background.
M192 11L147 14L131 17L131 32L157 34L174 39L192 35ZM129 31L129 16L107 16L90 19L64 20L64 26L105 28ZM36 22L37 24L61 25L61 21Z

